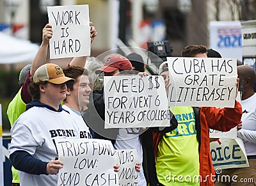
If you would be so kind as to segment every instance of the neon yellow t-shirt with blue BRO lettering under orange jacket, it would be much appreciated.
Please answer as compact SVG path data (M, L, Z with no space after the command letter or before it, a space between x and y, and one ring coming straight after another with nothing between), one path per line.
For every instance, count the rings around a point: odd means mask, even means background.
M157 178L163 185L200 185L198 140L192 107L170 107L178 127L164 134L156 155Z

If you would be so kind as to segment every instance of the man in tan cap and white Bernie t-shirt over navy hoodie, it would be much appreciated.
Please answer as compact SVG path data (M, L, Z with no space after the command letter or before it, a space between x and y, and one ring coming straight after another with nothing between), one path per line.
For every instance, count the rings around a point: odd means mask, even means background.
M11 130L10 160L20 170L21 185L57 185L56 174L63 163L54 160L58 157L54 140L79 137L76 123L61 107L68 81L74 79L65 77L60 66L52 63L35 71L29 86L33 100Z

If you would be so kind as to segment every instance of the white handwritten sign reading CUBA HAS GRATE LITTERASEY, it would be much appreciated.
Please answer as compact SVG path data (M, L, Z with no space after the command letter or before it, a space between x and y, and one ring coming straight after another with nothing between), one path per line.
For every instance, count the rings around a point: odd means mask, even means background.
M236 59L167 58L169 105L232 107L235 105Z

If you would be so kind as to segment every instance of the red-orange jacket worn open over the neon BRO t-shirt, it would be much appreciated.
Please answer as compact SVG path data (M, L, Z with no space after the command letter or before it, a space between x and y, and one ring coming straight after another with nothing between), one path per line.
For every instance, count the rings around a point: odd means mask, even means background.
M214 167L210 152L209 128L226 132L236 127L242 117L242 107L236 101L235 108L200 107L201 144L200 144L200 185L214 186Z

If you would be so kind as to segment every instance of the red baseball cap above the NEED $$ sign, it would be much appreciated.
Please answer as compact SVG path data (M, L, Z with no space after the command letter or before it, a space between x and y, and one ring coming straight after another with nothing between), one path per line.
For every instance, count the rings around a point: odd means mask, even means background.
M116 69L119 70L132 70L131 62L124 56L110 56L104 61L104 66L96 70L96 74L100 72L113 72Z

